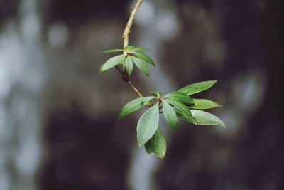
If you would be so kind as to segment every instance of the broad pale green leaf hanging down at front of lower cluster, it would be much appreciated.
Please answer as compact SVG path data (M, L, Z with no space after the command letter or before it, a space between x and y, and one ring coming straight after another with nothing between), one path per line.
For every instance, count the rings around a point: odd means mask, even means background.
M148 142L153 137L159 125L159 107L158 103L147 110L138 120L137 125L137 141L138 146Z

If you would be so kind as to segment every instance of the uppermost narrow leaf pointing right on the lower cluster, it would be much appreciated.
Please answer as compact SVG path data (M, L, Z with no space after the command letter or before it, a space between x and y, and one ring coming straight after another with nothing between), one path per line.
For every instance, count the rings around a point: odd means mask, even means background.
M215 83L217 83L217 80L208 80L199 83L193 83L191 85L187 85L183 88L180 88L180 90L178 91L185 93L187 95L193 95L196 93L200 93L204 90L207 90L208 88L211 88Z

